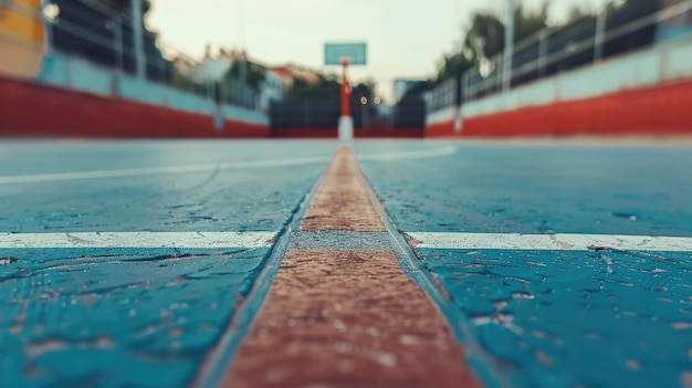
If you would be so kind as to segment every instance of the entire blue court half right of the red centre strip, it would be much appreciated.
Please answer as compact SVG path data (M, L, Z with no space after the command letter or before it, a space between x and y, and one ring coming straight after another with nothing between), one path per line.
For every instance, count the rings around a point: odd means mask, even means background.
M413 146L356 144L360 153ZM434 167L364 165L448 295L439 305L507 386L686 388L689 148L478 143ZM595 232L616 235L575 234ZM656 238L633 235L642 232Z

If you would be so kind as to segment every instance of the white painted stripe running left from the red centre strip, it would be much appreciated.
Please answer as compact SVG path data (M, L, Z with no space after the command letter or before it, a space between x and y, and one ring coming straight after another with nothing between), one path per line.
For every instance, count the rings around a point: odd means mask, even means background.
M263 248L274 232L0 233L0 248Z

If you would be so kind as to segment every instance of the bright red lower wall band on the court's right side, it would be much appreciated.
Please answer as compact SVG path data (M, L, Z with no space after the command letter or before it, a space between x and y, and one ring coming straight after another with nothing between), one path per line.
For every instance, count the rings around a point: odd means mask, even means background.
M692 135L692 82L663 84L464 118L426 128L427 137Z

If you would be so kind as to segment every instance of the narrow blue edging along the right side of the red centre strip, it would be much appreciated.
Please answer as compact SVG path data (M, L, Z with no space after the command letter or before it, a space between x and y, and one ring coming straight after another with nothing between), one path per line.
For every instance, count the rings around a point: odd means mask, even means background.
M483 347L476 339L478 336L473 335L471 322L460 313L452 302L442 293L432 279L428 266L415 253L406 235L396 228L357 155L356 161L365 191L375 211L385 223L385 228L390 237L391 249L399 261L401 270L423 291L431 303L440 311L440 314L447 319L454 340L461 344L468 352L464 364L472 368L483 386L487 388L512 387L512 384L504 377L504 374L493 366L493 357L483 350Z

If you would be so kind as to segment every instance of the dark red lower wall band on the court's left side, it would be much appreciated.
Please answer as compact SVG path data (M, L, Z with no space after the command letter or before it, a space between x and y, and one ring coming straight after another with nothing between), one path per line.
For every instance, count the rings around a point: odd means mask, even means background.
M0 77L0 136L266 138L268 125Z

